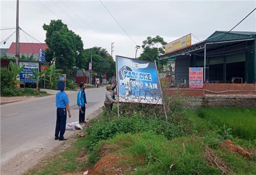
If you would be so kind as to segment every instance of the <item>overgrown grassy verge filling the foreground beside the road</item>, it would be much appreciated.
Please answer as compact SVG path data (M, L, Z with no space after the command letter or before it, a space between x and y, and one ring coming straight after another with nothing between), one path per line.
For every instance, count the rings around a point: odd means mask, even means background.
M256 147L256 140L248 140L251 137L244 137L250 132L241 135L236 129L243 125L234 121L244 122L241 117L243 116L245 120L254 122L254 109L178 110L175 115L172 113L168 116L172 122L166 122L161 116L156 118L158 114L154 117L143 115L145 113L143 109L139 110L137 108L137 112L130 111L119 118L115 115L116 107L112 114L103 111L98 118L91 121L93 127L84 130L85 138L78 138L68 150L58 154L45 165L29 170L26 174L77 172L86 167L93 167L107 155L129 158L116 164L117 167L130 167L130 171L124 174L221 174L221 170L217 166L209 165L204 157L205 145L214 149L216 155L234 173L256 174L254 159L246 159L220 147L220 142L223 141L220 134L223 124L232 127L234 144L246 149ZM234 110L236 111L233 112ZM228 114L232 114L231 117ZM228 117L224 120L223 116ZM245 129L245 127L241 128ZM89 152L88 161L78 161L77 157L84 150ZM107 168L103 170L108 171Z

